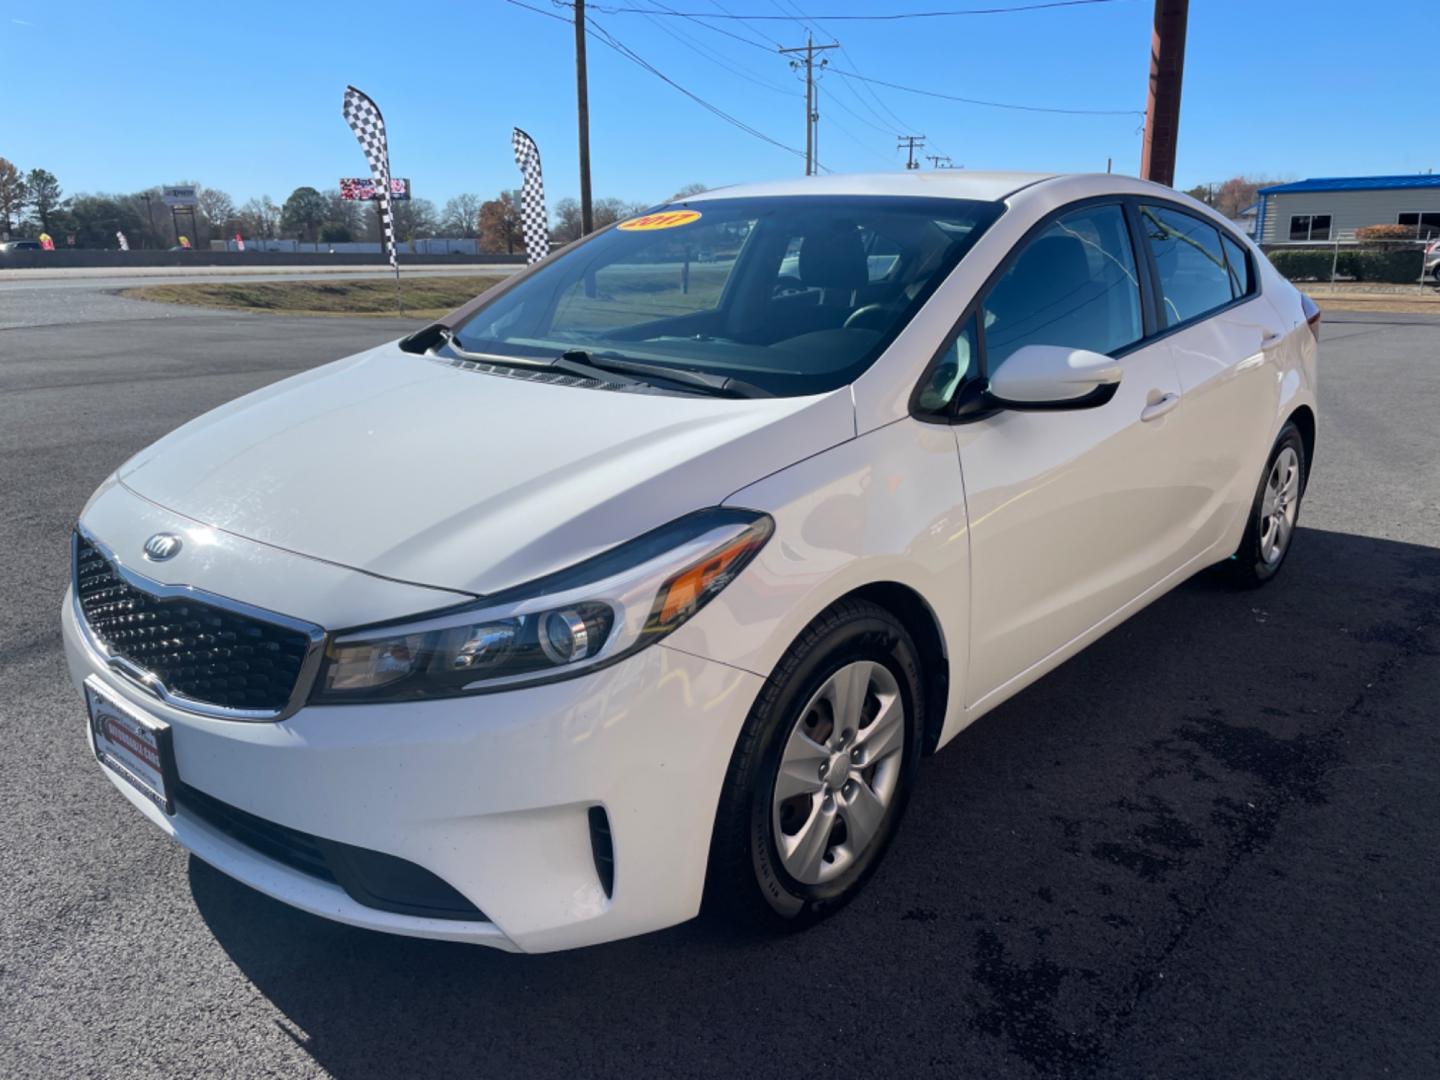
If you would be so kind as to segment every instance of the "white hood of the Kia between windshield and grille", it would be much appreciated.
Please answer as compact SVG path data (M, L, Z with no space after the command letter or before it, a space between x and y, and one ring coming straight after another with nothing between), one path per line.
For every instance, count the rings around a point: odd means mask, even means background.
M228 533L481 595L717 505L852 435L848 389L621 393L389 344L192 420L120 481Z

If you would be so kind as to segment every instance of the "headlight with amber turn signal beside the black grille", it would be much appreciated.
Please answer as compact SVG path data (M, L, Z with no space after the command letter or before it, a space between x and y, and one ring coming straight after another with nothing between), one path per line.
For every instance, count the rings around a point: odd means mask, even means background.
M770 539L749 510L701 510L579 566L405 625L336 635L312 704L477 694L577 675L660 641Z

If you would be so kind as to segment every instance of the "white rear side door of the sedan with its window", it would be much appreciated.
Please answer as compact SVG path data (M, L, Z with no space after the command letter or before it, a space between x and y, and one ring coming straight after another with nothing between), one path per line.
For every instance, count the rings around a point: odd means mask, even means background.
M1283 333L1260 295L1250 253L1198 215L1139 207L1164 341L1179 376L1185 556L1215 544L1244 514L1280 400Z

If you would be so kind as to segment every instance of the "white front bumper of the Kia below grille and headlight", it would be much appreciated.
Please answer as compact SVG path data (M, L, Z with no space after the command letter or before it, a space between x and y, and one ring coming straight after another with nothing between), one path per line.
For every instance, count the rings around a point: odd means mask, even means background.
M181 782L269 822L436 874L485 922L399 914L258 854L189 812L167 816L107 769L180 844L302 910L374 930L544 952L626 937L700 909L710 831L762 680L664 645L590 675L471 698L301 708L253 723L196 716L117 678L66 595L76 687L105 688L173 729ZM602 806L613 890L595 863Z

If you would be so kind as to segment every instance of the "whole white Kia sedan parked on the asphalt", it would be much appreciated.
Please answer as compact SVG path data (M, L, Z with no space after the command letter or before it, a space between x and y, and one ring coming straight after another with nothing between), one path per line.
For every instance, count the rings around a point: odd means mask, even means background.
M1280 570L1318 320L1139 180L658 207L107 480L88 739L150 825L356 926L812 923L923 756L1195 572Z

